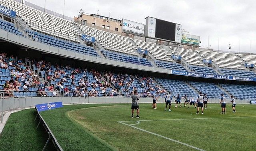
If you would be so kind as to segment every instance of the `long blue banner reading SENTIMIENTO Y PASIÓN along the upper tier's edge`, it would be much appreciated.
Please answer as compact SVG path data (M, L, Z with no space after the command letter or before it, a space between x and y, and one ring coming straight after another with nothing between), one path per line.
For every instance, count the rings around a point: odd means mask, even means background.
M190 73L187 71L177 71L177 70L172 70L172 74L173 75L202 77L202 78L217 78L217 79L224 79L224 80L256 81L256 78L254 78L254 77L211 75L211 74L205 74L205 73Z

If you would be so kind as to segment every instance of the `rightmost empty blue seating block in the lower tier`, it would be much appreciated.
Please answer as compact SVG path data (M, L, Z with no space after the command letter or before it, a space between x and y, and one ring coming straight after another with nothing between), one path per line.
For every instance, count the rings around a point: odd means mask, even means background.
M227 90L235 98L256 100L255 85L238 85L238 84L220 84L222 88Z

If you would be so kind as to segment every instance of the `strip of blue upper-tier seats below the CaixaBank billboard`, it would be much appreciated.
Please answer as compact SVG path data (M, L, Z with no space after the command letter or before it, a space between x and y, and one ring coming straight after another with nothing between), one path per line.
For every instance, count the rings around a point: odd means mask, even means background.
M153 66L152 63L150 63L147 59L145 58L140 58L132 55L124 55L121 53L113 53L110 51L101 51L102 54L112 60L116 61L123 61L127 63L134 63L138 65L145 65L145 66Z

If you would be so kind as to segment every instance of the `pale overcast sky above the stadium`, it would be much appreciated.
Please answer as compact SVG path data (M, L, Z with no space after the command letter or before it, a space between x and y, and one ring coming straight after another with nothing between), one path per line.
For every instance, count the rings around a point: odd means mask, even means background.
M200 36L201 48L256 53L254 0L26 0L68 17L85 13L145 24L147 16L182 25Z

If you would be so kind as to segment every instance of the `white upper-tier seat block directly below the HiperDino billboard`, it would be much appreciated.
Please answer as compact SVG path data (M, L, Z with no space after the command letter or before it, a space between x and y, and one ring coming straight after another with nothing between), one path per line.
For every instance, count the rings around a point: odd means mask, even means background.
M203 65L200 56L192 49L170 47L174 55L180 55L190 65Z

